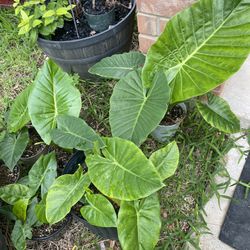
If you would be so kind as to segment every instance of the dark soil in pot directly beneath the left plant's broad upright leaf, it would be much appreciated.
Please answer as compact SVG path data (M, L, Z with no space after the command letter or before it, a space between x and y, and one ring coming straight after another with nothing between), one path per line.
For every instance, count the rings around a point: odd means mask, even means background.
M24 153L22 154L22 158L29 158L35 156L46 147L46 145L42 143L41 137L34 128L29 129L29 138L29 144L26 147Z

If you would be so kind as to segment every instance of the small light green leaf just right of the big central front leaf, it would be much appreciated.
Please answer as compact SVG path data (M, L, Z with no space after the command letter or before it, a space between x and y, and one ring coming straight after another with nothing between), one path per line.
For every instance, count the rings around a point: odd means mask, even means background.
M169 178L175 173L179 163L179 149L176 142L173 141L157 150L150 156L149 160L154 164L162 180Z

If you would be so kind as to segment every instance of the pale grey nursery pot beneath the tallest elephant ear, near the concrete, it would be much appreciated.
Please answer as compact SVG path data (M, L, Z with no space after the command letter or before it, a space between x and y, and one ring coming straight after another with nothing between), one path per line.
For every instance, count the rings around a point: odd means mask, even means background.
M151 133L152 137L157 140L158 142L167 142L169 139L171 139L178 128L180 127L180 124L184 120L187 114L187 107L184 103L177 104L176 106L180 107L183 111L183 117L175 124L172 125L158 125L156 129Z

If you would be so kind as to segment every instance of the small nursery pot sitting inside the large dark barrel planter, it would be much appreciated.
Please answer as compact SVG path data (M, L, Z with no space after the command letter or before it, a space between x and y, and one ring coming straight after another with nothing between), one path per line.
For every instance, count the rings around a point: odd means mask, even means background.
M115 7L112 7L112 9L109 12L100 15L89 14L86 11L84 11L84 15L87 19L89 26L93 30L97 32L102 32L104 30L107 30L108 27L114 23Z

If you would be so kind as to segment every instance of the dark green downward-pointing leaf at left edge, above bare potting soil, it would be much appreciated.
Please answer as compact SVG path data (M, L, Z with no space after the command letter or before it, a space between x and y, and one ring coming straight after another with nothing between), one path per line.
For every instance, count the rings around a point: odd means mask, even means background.
M29 133L27 129L23 129L18 134L5 134L3 141L0 142L0 159L10 170L15 167L28 142Z

